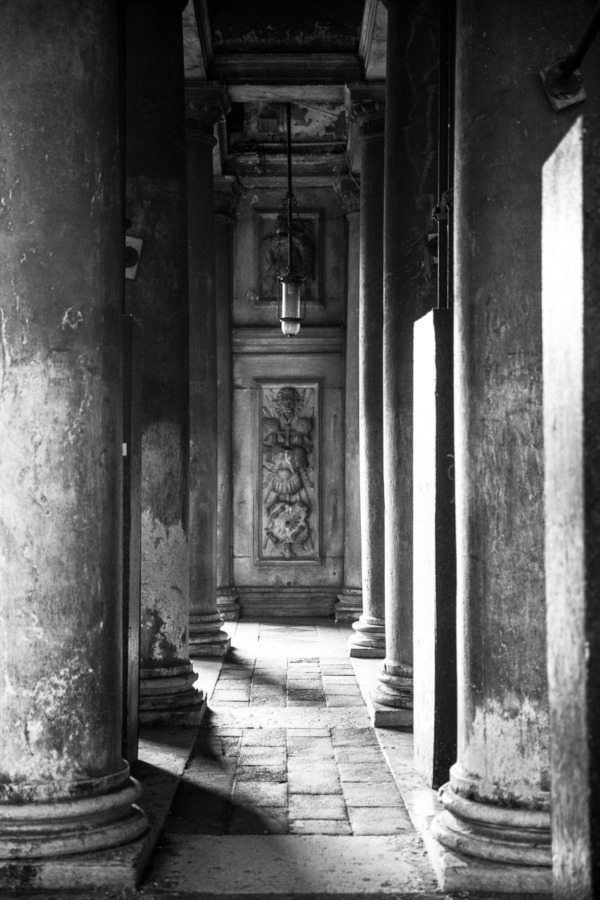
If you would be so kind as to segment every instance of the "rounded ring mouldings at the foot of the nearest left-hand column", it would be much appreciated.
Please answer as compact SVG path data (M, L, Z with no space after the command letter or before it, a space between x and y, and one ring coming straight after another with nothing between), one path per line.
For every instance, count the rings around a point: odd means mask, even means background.
M128 844L148 829L145 813L134 805L142 789L129 777L129 766L117 775L71 783L71 796L65 799L29 802L21 799L24 791L28 793L26 785L15 786L20 802L0 803L0 860L106 850ZM93 796L85 796L89 792Z

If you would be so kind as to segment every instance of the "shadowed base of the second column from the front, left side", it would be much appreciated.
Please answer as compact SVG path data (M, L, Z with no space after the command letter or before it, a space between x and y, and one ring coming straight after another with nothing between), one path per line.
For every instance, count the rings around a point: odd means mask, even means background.
M140 723L199 725L206 709L206 697L203 691L193 687L197 678L191 663L141 669Z

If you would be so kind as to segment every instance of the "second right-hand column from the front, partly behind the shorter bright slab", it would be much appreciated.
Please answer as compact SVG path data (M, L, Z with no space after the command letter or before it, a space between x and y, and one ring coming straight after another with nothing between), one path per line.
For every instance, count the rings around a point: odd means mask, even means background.
M386 656L376 724L410 725L413 706L413 326L434 306L424 266L437 197L437 21L433 0L388 0L383 289ZM422 73L415 79L415 72ZM432 535L433 541L433 535Z

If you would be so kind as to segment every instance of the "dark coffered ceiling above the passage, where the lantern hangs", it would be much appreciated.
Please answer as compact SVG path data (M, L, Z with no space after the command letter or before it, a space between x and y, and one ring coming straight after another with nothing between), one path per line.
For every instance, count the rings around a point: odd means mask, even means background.
M224 84L231 101L220 172L284 174L286 102L296 171L358 171L352 92L381 85L385 27L379 0L189 0L186 80Z

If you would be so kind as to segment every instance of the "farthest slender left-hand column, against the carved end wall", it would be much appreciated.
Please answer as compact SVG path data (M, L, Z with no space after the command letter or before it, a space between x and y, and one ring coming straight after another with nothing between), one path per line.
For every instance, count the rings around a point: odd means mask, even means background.
M217 304L217 609L235 621L240 602L233 585L232 560L232 360L231 360L231 226L235 197L231 186L215 194L215 279Z

